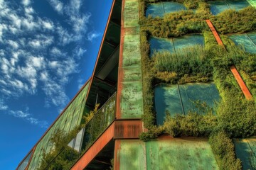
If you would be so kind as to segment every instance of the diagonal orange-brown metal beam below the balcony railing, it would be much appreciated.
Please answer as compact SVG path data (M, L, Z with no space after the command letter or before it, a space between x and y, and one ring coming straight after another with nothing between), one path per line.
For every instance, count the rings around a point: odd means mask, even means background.
M85 169L85 167L90 164L92 159L96 157L96 155L107 145L110 140L114 137L114 123L110 125L107 130L95 141L95 143L87 149L87 152L80 157L78 162L73 165L71 169L73 170L82 170Z

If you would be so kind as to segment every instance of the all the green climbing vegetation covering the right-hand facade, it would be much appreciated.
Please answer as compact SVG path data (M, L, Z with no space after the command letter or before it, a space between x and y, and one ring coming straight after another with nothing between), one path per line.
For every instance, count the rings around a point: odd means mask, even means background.
M206 26L205 19L213 22L218 33L246 33L256 30L256 9L247 7L241 11L228 10L213 16L204 0L176 0L193 11L166 14L163 18L145 17L146 5L160 0L141 0L139 17L141 29L141 52L144 94L144 125L149 128L140 138L151 140L163 132L173 137L210 137L210 145L220 169L242 169L235 158L233 137L256 135L255 98L247 101L240 91L230 66L238 68L252 96L256 93L256 55L245 52L227 35L220 35L225 49L220 47ZM205 47L189 47L176 53L155 52L149 57L150 36L171 38L187 33L203 33ZM154 86L159 83L184 84L188 82L214 81L222 101L216 114L201 103L204 114L171 117L166 113L163 126L156 126L154 112Z

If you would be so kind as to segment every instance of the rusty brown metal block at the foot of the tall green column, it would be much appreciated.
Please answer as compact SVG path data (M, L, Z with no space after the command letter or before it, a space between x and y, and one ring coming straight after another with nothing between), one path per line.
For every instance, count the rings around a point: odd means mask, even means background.
M114 139L138 139L142 132L142 120L116 120L114 122Z

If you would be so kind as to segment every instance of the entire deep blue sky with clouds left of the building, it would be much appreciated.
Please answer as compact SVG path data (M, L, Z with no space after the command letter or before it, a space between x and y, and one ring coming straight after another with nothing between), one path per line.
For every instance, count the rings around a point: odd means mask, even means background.
M15 169L92 74L112 0L0 0L0 167Z

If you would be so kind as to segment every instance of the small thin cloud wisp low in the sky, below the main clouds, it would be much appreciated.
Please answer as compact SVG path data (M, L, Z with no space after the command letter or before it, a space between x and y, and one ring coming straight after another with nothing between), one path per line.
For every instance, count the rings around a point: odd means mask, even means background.
M29 109L26 108L25 111L8 111L9 115L12 115L16 118L21 118L23 120L28 121L32 125L38 125L41 128L47 128L48 123L46 121L38 120L37 118L33 118L32 114L28 113Z

